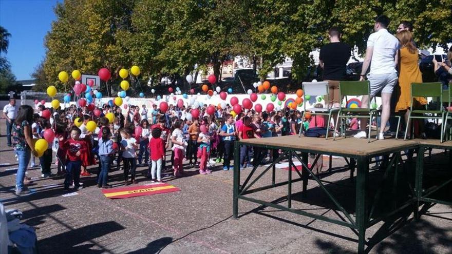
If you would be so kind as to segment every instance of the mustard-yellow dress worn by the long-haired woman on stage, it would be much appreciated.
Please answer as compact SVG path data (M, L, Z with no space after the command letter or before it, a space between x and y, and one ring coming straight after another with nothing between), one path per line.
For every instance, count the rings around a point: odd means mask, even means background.
M411 54L407 48L400 50L400 96L396 105L396 112L409 109L411 106L411 83L422 83L422 73L418 65L418 53ZM424 97L415 97L415 105L427 104Z

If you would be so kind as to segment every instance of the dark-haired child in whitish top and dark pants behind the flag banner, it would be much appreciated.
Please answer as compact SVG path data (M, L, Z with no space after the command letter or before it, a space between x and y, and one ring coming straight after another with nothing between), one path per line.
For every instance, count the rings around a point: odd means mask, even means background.
M124 162L124 185L129 185L128 177L130 171L130 179L132 183L138 183L135 180L135 169L137 168L136 152L138 149L137 140L132 138L130 133L125 128L120 130L121 133L121 149L122 161Z

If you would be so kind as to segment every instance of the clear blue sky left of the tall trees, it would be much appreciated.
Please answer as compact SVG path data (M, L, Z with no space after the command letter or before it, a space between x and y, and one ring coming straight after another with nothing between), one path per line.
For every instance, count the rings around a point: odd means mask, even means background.
M44 37L55 19L53 7L57 2L0 0L0 25L11 34L6 57L16 80L31 79L31 73L43 60Z

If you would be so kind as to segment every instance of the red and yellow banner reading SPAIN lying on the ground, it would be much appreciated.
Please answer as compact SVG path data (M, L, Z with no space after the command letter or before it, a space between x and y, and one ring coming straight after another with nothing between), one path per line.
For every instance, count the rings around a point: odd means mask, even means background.
M102 189L105 197L109 199L126 199L138 196L147 196L152 194L179 191L180 189L166 183L131 186L124 188Z

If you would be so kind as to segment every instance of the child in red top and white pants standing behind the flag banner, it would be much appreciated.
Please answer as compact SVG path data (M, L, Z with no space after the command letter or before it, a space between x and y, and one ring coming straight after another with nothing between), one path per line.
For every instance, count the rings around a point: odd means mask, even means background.
M162 161L164 156L164 145L163 140L160 138L162 134L162 130L160 128L154 128L151 132L152 138L149 142L149 148L152 151L150 153L150 160L152 161L152 182L156 180L156 168L157 168L157 182L162 183L161 180L161 171L162 171Z

